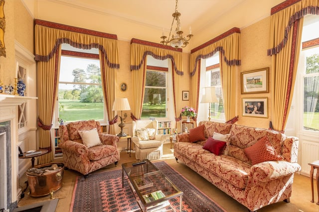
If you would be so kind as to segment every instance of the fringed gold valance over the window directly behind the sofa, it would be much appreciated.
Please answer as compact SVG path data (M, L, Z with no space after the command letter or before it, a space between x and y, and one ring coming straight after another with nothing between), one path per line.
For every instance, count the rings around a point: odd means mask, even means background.
M216 38L194 48L190 54L190 75L197 70L198 61L220 52L228 66L240 65L240 29L234 27Z

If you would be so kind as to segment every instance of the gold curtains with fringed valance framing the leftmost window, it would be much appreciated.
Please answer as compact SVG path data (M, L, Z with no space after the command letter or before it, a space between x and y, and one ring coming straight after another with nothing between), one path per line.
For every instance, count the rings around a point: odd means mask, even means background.
M53 159L52 142L49 129L52 125L54 107L57 101L59 66L62 43L70 44L79 49L98 48L104 56L101 62L102 76L104 80L115 77L115 69L119 69L119 54L117 36L92 30L86 30L73 26L53 23L44 20L35 20L35 60L37 61L37 90L39 120L44 127L39 128L39 147L48 149L49 153L40 157L40 163L48 163ZM103 53L103 54L102 54ZM112 80L115 80L113 78ZM103 82L103 86L106 83ZM107 112L110 111L109 104L114 101L114 87L103 88L104 96L107 98ZM106 91L106 92L105 92ZM109 117L112 113L109 113ZM114 114L112 115L114 116ZM42 125L41 124L41 125ZM40 125L39 125L40 126Z

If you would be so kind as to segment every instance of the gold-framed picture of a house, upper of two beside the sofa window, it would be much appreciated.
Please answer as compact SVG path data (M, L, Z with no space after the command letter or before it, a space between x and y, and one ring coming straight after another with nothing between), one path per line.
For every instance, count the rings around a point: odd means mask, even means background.
M269 67L241 73L241 93L268 93Z

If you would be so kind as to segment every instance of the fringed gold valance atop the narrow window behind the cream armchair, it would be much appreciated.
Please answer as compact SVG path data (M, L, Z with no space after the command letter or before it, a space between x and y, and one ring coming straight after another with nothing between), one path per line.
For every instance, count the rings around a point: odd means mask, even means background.
M140 70L148 55L151 55L158 60L170 59L174 71L178 75L183 75L183 71L181 71L182 49L176 49L170 46L142 41L135 38L131 40L131 71Z

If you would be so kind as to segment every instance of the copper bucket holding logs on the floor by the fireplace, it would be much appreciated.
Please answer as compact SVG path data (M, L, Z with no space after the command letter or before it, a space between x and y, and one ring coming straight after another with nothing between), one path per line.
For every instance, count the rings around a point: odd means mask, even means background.
M28 175L28 184L30 188L30 195L32 197L41 197L51 194L53 199L53 192L57 191L62 186L64 163L46 163L35 166L34 168L51 167L52 164L56 164L58 169L38 176Z

